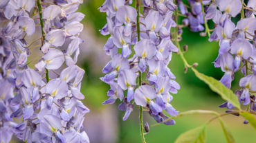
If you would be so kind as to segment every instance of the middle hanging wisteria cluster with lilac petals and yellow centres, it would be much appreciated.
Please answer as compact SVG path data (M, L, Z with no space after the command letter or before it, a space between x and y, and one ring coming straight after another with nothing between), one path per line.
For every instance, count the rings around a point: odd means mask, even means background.
M179 52L170 34L171 28L176 27L172 14L177 6L172 0L143 0L143 14L138 14L129 5L131 2L106 0L99 8L107 14L107 24L100 33L110 35L103 50L111 56L111 61L102 69L106 75L100 78L111 87L107 91L109 99L102 104L113 104L119 99L118 109L125 111L123 120L127 120L135 102L156 122L163 122L168 118L163 110L170 115L179 113L170 104L173 99L170 93L177 94L180 85L167 67L172 52ZM138 24L140 31L137 31ZM145 75L142 85L138 84L139 73ZM168 120L164 124L172 125L175 121Z

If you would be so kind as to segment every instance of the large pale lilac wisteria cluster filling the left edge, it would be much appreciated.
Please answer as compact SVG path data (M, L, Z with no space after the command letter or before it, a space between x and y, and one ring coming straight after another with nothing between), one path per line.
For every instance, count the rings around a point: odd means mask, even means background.
M84 70L78 67L79 38L84 14L75 12L80 0L0 1L0 142L10 142L12 134L24 142L87 142L82 123L89 109L80 101ZM39 24L35 24L39 19ZM26 39L41 26L42 44L31 47ZM66 50L58 47L71 41ZM36 41L37 41L36 40ZM28 65L30 54L40 47L42 56L35 69ZM54 70L66 68L57 74ZM49 71L57 78L49 77ZM14 122L13 118L21 118Z

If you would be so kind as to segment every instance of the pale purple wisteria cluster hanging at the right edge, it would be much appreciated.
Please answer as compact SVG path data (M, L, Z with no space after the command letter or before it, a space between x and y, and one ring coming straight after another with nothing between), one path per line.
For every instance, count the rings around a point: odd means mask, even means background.
M245 3L244 6L246 6ZM231 82L234 80L234 73L241 70L244 78L240 79L239 86L241 89L237 90L235 94L240 103L250 104L250 111L256 112L255 96L250 92L256 91L256 18L252 11L255 8L255 1L248 1L246 7L249 8L246 10L246 18L241 13L241 20L235 24L231 20L232 17L236 17L241 12L241 1L212 1L205 14L205 19L212 19L217 25L209 41L219 40L219 55L214 61L214 67L221 67L221 70L225 72L220 82L230 89ZM230 102L225 102L220 107L234 108Z

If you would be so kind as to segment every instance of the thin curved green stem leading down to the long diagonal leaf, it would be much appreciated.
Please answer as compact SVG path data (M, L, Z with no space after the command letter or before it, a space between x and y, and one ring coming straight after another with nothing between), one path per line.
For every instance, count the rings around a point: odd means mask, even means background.
M178 24L178 10L175 10L174 14L175 14L175 23ZM178 32L178 26L176 26L176 28L174 28L174 36L175 36L175 45L179 49L179 55L181 55L181 58L185 64L185 67L192 67L191 65L188 64L188 62L186 61L186 59L183 55L183 52L181 51L181 46L178 41L178 33L177 32Z

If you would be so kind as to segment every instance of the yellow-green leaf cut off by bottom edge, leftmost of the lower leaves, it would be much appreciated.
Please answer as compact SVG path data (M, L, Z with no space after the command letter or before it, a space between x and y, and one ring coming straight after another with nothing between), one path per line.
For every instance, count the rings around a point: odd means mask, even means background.
M207 124L191 129L179 135L175 143L204 143L206 142L205 129Z

